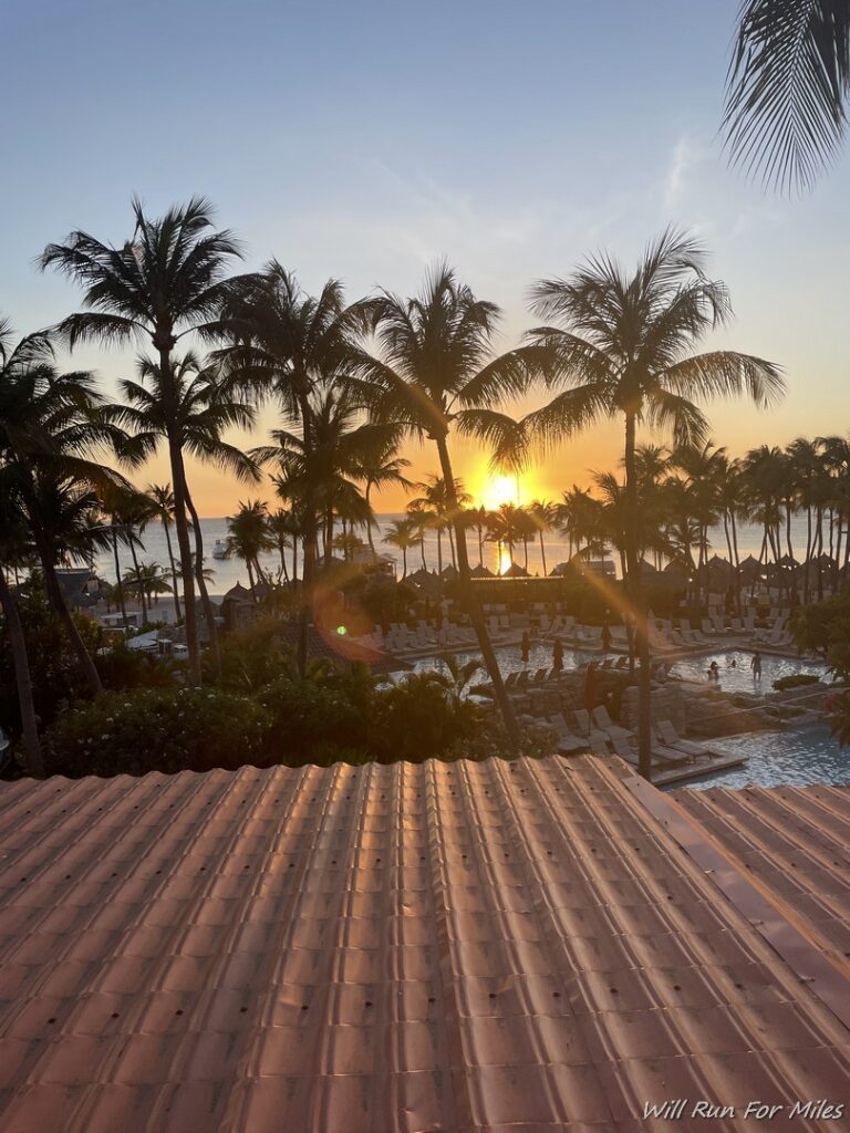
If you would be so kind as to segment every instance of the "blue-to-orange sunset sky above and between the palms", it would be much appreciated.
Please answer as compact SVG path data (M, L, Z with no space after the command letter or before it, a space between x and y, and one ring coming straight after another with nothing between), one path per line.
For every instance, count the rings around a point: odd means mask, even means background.
M35 266L49 241L83 228L122 242L134 194L152 214L203 194L247 267L275 256L308 291L334 276L350 299L411 295L448 259L502 307L508 348L535 323L534 280L600 249L630 264L675 223L731 292L736 321L705 347L770 358L788 382L768 414L709 406L716 442L737 454L843 433L850 159L791 199L729 169L717 128L737 8L6 0L0 313L24 333L77 308L77 289ZM87 348L70 364L112 394L133 356ZM567 442L529 468L520 502L586 484L621 444L610 421ZM407 455L414 477L436 470L433 453ZM483 454L458 445L456 462L479 502ZM215 469L189 475L204 516L246 496ZM137 478L168 479L164 454Z

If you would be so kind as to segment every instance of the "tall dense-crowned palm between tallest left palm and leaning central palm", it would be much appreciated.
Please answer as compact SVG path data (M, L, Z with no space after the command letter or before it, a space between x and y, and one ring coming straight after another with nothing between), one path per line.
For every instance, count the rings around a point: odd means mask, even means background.
M261 398L275 400L287 431L300 436L304 459L315 446L312 399L328 383L345 385L352 375L350 334L359 315L347 308L342 286L329 280L317 298L306 295L277 261L241 289L228 308L233 346L221 352L229 370ZM307 667L307 631L318 554L318 509L312 480L299 501L303 526L303 582L298 667Z

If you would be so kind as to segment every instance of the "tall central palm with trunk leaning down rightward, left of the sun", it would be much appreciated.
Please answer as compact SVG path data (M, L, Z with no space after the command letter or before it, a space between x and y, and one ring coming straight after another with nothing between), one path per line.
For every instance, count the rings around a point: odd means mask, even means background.
M371 386L366 399L381 419L398 424L417 438L427 437L436 446L457 540L462 602L478 639L509 742L517 749L517 721L470 586L466 528L457 499L449 437L452 429L477 437L493 449L494 463L504 463L505 454L516 452L520 432L516 421L494 407L529 387L541 372L543 351L526 346L494 357L499 309L476 299L447 266L431 273L418 298L402 299L382 291L368 304L367 314L380 355L364 351L360 358L362 375Z

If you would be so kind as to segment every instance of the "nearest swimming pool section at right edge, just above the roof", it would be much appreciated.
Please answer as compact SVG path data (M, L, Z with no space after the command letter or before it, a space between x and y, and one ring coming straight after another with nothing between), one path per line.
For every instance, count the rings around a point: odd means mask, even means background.
M709 786L813 786L816 783L850 782L850 748L841 748L824 724L797 724L781 732L709 741L713 749L748 757L743 767L719 775L689 780L680 787L700 791Z

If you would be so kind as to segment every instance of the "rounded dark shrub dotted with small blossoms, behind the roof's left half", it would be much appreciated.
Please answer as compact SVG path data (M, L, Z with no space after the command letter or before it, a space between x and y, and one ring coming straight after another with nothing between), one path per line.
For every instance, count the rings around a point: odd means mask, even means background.
M51 774L203 772L265 760L262 706L218 689L107 692L61 716L44 736Z

